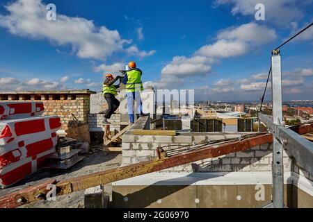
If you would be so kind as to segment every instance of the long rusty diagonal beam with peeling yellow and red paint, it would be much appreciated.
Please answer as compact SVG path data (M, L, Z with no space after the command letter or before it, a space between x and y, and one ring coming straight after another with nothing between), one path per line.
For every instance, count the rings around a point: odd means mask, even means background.
M141 162L138 164L131 164L125 167L100 171L91 173L86 176L79 176L77 178L70 178L67 180L47 180L47 182L32 186L20 191L15 191L12 194L0 197L0 208L18 207L26 203L31 203L37 200L45 200L47 194L51 192L51 185L55 187L56 196L70 194L74 191L104 185L110 182L140 176L145 173L152 173L168 169L170 167L177 167L182 164L188 164L198 160L204 160L210 157L219 157L234 153L236 151L248 150L254 146L263 144L271 144L273 136L271 134L257 134L255 137L239 140L236 142L225 142L224 144L209 145L200 150L191 151L189 153L182 153L171 157L166 157L164 151L158 149L158 157L155 160ZM49 189L47 189L49 187Z

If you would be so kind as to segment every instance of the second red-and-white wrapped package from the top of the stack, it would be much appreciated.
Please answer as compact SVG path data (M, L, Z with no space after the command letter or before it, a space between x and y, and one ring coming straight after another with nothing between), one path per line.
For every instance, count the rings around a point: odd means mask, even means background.
M31 117L0 121L0 146L33 138L50 137L61 128L58 116Z

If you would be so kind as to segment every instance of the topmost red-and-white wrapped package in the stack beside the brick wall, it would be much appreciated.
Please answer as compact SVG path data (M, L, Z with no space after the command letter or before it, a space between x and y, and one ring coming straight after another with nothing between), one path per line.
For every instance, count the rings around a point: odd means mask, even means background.
M0 102L0 120L40 116L44 110L42 102Z

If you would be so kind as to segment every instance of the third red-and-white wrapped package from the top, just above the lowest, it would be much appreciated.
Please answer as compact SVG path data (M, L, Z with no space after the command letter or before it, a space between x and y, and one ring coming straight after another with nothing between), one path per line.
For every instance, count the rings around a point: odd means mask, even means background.
M20 141L17 144L7 144L0 146L0 167L6 167L8 164L24 160L26 157L38 155L51 148L54 148L58 142L56 133L52 133L50 137L43 139L35 137L26 141Z

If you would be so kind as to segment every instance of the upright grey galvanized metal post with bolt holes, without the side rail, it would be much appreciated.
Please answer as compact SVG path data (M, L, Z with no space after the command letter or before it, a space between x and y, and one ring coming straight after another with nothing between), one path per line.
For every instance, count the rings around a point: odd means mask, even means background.
M272 58L272 103L273 103L273 124L276 127L282 125L282 69L280 52L273 51ZM277 131L274 128L275 131ZM283 148L280 140L273 132L273 208L284 207L284 165Z

